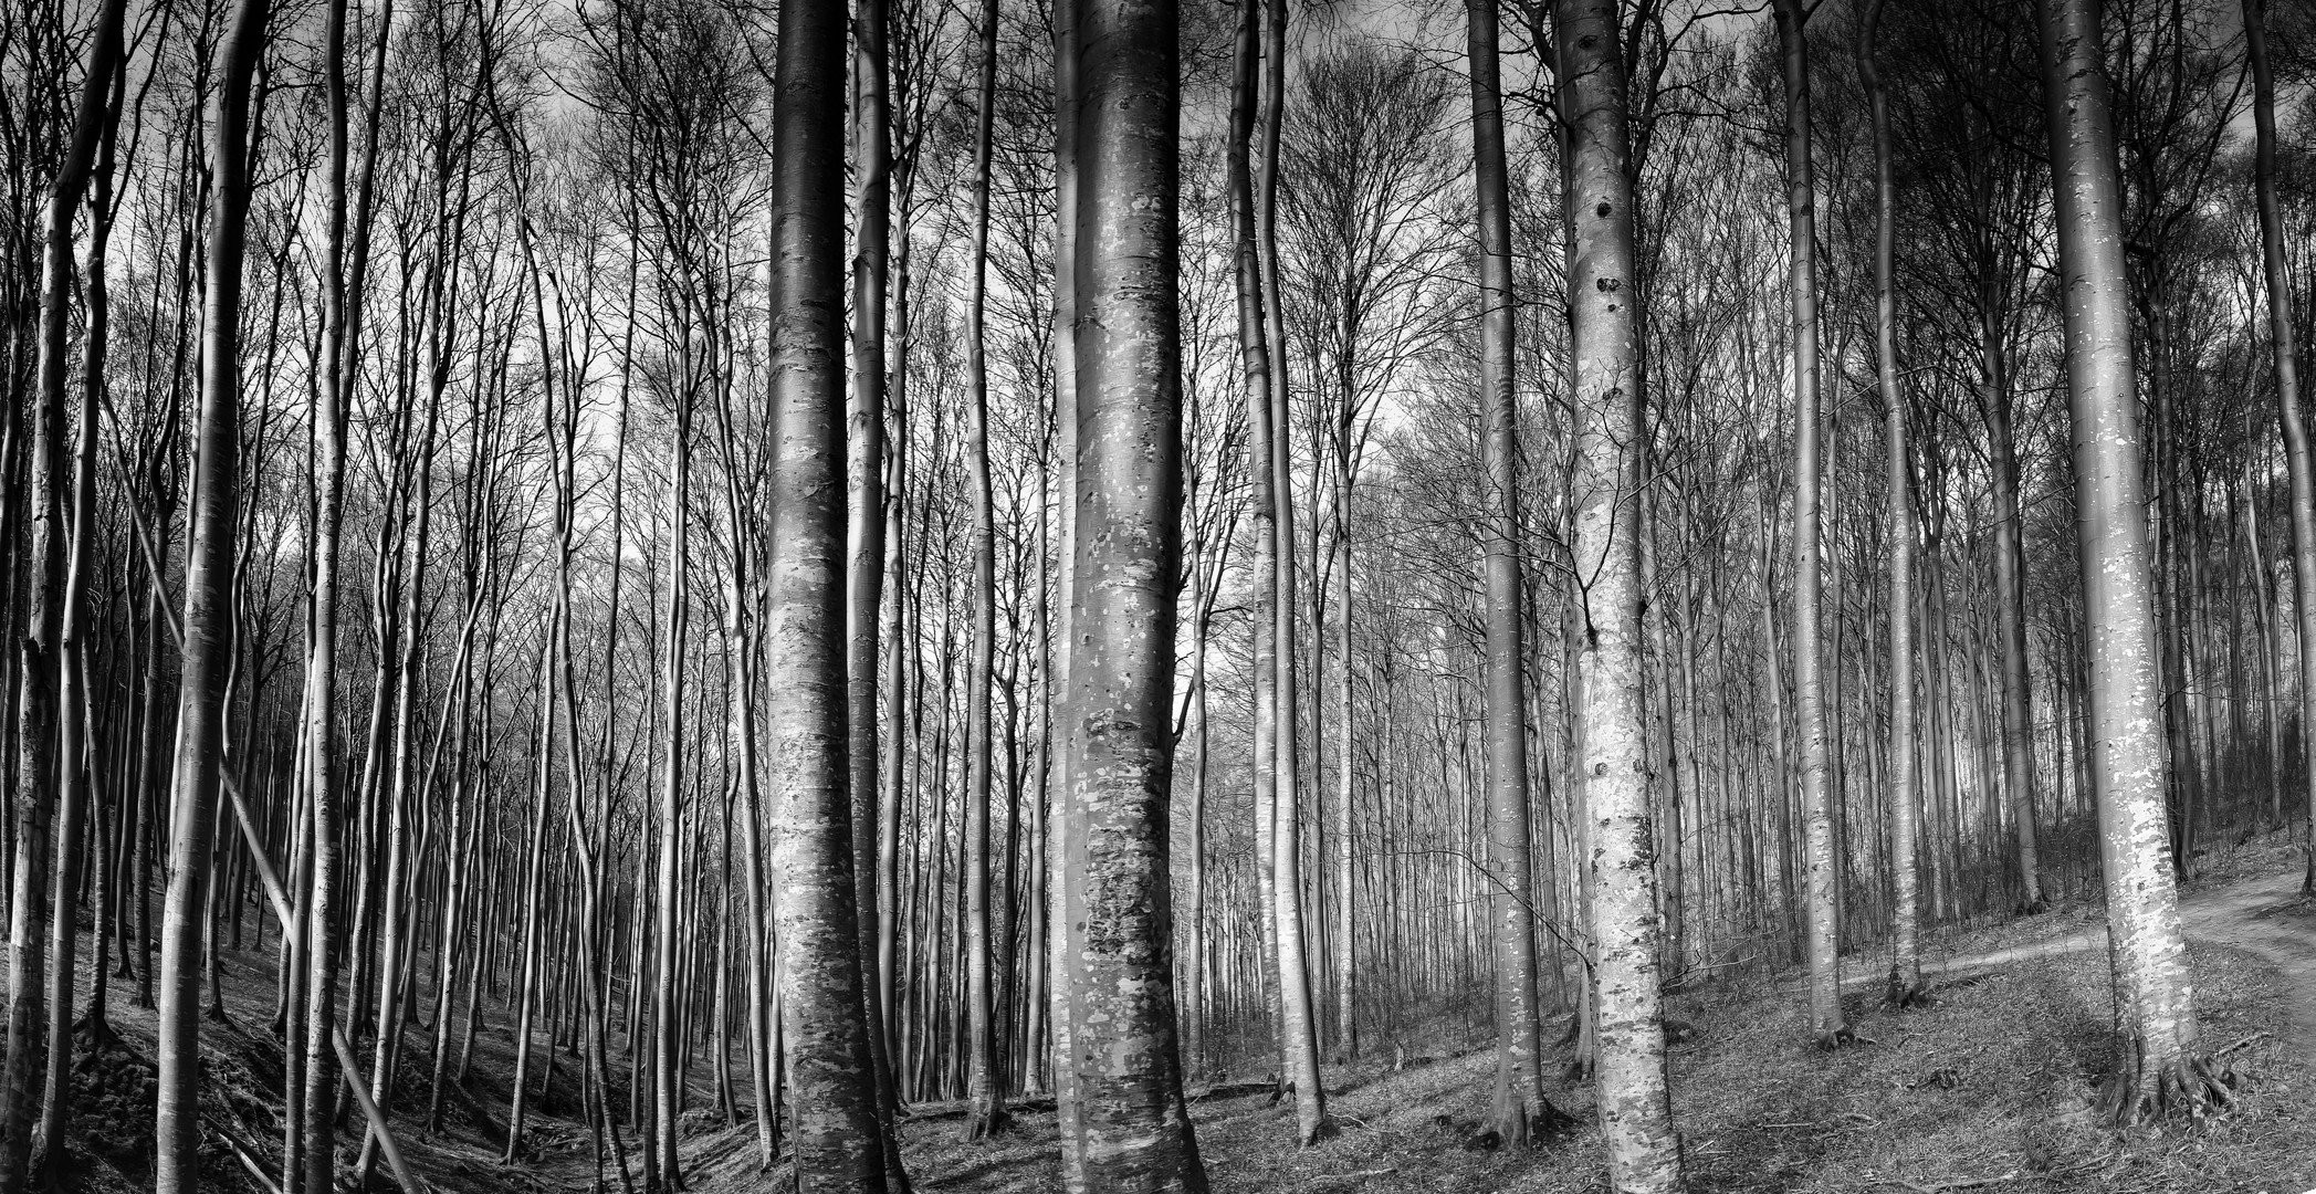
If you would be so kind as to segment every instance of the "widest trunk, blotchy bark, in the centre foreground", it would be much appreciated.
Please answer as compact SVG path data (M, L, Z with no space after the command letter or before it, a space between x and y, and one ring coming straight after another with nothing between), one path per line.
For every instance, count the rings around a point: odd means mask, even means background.
M1070 678L1061 710L1063 916L1056 983L1063 1180L1072 1192L1204 1192L1181 1097L1167 791L1181 576L1177 12L1075 0L1082 167L1070 322Z

